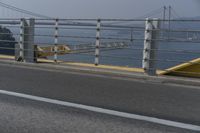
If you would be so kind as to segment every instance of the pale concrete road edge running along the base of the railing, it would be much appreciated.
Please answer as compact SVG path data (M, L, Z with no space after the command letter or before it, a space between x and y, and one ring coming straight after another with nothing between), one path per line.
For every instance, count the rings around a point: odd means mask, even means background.
M186 77L175 77L175 76L148 76L144 73L139 72L128 72L120 70L110 70L103 68L94 67L83 67L76 65L62 65L54 63L24 63L16 62L13 60L2 60L0 59L0 65L9 65L12 67L27 68L27 69L39 69L39 70L50 70L59 72L81 72L90 75L110 76L111 78L123 78L124 80L140 80L150 83L162 83L162 84L173 84L173 85L185 85L200 87L200 80L198 78L186 78Z

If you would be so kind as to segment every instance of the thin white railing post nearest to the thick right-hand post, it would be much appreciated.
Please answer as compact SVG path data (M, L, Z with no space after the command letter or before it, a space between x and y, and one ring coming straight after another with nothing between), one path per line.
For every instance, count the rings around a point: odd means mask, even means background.
M99 53L100 53L100 28L101 20L97 20L97 31L96 31L96 48L95 48L95 65L99 65Z

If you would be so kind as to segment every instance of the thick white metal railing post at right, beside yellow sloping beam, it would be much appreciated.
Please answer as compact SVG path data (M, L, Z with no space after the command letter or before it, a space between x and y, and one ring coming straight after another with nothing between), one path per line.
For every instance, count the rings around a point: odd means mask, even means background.
M158 49L160 21L158 19L146 19L145 40L143 50L143 69L151 76L156 75L156 52Z

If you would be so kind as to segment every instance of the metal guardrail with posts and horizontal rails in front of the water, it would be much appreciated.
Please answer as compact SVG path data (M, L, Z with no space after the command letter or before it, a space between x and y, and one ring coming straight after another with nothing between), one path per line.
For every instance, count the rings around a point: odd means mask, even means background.
M157 70L195 64L200 58L200 20L159 19L0 19L0 52L16 60L35 62L38 46L51 46L59 62L84 62ZM9 31L10 30L10 31ZM14 38L12 38L12 36ZM70 52L59 55L58 45ZM52 54L51 54L52 55ZM176 73L199 72L178 71Z

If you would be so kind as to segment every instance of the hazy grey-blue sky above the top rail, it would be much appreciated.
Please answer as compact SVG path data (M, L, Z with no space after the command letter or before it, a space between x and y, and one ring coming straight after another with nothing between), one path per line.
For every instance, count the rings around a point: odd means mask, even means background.
M135 18L171 5L180 16L200 16L200 0L0 0L51 17Z

